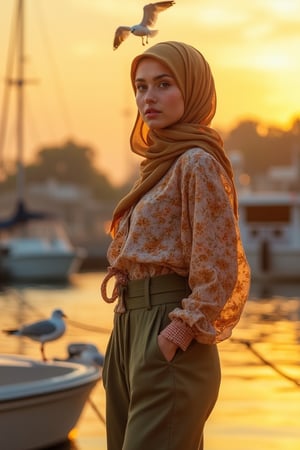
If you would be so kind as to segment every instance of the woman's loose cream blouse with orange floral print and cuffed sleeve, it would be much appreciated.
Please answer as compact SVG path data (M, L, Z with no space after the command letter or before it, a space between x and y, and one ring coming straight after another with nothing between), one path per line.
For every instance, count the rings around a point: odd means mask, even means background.
M183 153L120 221L108 249L129 279L177 273L191 294L162 334L183 350L231 335L248 297L250 270L221 165L200 148Z

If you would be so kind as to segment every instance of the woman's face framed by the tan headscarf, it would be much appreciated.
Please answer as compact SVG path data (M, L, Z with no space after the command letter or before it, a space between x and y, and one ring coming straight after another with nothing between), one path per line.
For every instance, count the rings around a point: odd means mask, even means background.
M152 129L178 122L184 101L170 69L153 58L142 59L135 74L136 104L142 119Z

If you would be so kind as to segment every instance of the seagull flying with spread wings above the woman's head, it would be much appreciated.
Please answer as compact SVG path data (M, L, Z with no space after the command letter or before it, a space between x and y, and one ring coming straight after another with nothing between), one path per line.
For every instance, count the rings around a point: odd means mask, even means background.
M164 11L170 6L175 5L175 2L157 2L145 5L143 10L143 19L141 23L133 25L132 27L120 26L116 29L114 38L114 50L130 35L141 36L142 44L148 44L148 37L153 37L158 33L158 30L150 30L156 23L158 13Z

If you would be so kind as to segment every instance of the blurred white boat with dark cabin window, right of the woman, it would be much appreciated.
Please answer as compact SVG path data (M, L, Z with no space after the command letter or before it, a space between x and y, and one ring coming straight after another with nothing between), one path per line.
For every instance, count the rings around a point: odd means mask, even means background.
M240 229L252 279L300 279L300 195L255 192L239 197Z

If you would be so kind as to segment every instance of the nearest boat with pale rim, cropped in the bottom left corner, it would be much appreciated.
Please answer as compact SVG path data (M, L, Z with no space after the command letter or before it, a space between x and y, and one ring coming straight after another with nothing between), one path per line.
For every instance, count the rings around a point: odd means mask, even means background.
M0 356L0 448L34 450L66 441L99 379L93 366Z

